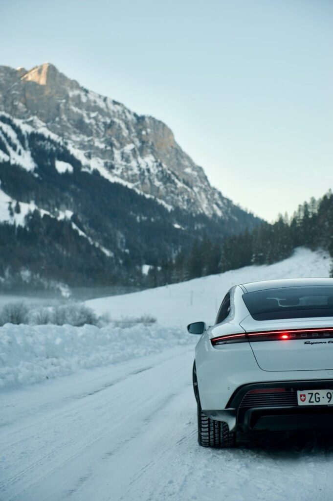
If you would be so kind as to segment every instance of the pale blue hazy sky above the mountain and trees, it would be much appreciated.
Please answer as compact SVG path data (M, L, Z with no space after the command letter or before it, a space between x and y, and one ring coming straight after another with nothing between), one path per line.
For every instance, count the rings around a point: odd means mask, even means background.
M332 0L1 0L0 23L0 64L163 120L265 219L333 187Z

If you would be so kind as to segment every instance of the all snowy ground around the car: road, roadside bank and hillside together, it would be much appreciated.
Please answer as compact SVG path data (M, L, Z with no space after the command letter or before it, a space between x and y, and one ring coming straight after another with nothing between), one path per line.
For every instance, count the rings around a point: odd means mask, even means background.
M183 329L212 322L235 283L329 268L325 255L298 249L272 266L88 302L114 320L147 314L155 324L0 328L1 501L331 500L333 435L198 446L195 337Z

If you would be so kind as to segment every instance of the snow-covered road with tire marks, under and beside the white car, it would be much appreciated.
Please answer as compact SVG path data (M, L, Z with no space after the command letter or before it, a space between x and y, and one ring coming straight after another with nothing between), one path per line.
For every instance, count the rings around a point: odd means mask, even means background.
M1 501L328 501L333 436L198 446L193 347L3 391Z

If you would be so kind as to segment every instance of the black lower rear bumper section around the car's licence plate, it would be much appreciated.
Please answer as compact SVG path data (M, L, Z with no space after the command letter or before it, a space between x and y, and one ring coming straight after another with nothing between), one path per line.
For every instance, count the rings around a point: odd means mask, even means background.
M253 390L283 392L256 393ZM298 406L297 390L333 389L333 380L260 382L239 387L221 410L203 410L233 430L333 430L333 405Z

